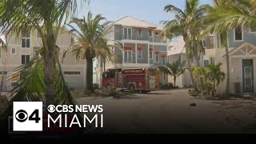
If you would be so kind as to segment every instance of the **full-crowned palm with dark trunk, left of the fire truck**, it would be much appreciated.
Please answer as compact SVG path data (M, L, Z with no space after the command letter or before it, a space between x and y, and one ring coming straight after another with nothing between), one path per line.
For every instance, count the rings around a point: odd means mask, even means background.
M73 18L70 24L78 26L76 29L71 27L71 32L77 34L76 42L66 51L65 55L69 52L76 54L78 59L86 59L86 90L94 92L93 87L93 59L101 57L104 62L117 62L118 57L114 54L114 51L110 50L110 47L120 47L121 44L113 40L107 40L106 34L110 32L108 27L110 22L101 24L106 20L101 14L97 14L94 18L89 12L87 18L78 19Z

